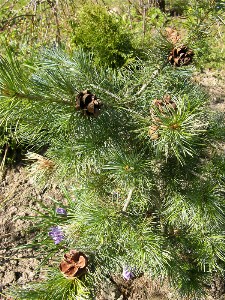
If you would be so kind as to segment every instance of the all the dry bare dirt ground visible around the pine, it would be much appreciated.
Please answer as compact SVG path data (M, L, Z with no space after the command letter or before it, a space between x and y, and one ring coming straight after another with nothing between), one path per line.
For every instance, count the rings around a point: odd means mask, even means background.
M194 78L211 94L211 107L216 111L225 111L225 71L206 70ZM35 271L39 260L32 249L18 248L29 243L32 235L27 229L30 221L18 219L18 216L33 215L38 209L37 200L49 203L49 197L62 199L57 186L37 189L30 180L26 168L17 166L7 169L0 181L0 299L7 299L1 292L12 284L24 284L33 281L40 274ZM145 277L126 282L115 277L114 283L102 287L98 300L168 300L178 299L166 286L152 282ZM209 287L207 300L225 300L225 280L215 279ZM53 299L49 299L53 300ZM191 299L189 299L191 300Z

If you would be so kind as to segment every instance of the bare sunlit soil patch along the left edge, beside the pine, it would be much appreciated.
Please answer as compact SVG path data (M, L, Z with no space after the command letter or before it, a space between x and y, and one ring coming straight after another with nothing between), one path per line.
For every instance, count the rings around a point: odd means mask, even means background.
M36 272L40 263L36 252L22 247L30 244L35 234L29 232L31 221L19 218L35 215L38 201L47 204L50 196L62 198L57 187L48 191L35 187L24 166L6 170L0 183L0 293L12 284L41 277Z

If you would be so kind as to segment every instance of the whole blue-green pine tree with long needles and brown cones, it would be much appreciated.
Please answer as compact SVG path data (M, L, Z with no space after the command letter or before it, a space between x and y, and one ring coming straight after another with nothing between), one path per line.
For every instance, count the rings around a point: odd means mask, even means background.
M223 274L224 128L191 68L168 55L116 70L83 51L46 50L32 64L1 57L1 125L29 151L47 148L29 156L36 177L69 182L76 199L68 193L64 211L55 202L35 216L38 251L56 269L11 296L94 299L128 266L200 299Z

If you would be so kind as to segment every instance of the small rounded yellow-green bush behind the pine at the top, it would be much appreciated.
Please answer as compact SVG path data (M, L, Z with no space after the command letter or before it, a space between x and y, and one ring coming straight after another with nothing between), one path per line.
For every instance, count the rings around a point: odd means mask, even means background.
M123 21L102 6L83 6L72 28L76 47L93 52L97 65L121 67L135 55Z

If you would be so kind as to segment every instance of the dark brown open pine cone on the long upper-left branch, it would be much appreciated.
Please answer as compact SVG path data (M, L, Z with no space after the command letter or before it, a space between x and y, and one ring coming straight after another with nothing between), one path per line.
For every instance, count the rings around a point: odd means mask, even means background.
M88 90L81 91L76 97L76 110L81 110L85 116L98 117L101 107L101 101Z

